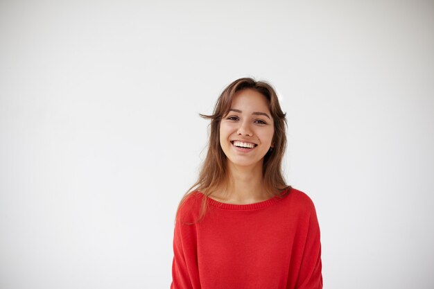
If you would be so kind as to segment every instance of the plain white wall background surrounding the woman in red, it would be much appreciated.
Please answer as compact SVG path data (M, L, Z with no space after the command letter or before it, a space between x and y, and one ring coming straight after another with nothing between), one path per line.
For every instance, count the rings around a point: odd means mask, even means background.
M1 1L0 288L168 288L222 89L268 80L324 288L434 288L433 1Z

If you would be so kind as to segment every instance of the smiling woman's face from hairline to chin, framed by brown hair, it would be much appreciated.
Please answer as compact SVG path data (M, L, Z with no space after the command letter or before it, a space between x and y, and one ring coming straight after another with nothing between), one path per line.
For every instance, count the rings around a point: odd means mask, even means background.
M243 89L234 95L229 113L220 122L220 146L231 165L262 168L274 132L266 97Z

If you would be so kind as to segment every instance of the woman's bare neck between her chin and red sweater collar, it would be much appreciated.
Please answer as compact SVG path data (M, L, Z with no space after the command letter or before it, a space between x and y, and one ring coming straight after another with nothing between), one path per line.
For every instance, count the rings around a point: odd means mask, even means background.
M263 186L262 164L245 167L228 162L227 170L227 186L220 193L213 194L216 200L231 204L252 204L270 198Z

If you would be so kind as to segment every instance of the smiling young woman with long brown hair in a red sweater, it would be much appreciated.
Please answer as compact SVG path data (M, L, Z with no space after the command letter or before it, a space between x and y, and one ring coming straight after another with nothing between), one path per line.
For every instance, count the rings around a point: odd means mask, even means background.
M322 288L315 207L281 173L285 116L275 90L252 78L202 115L209 148L177 210L172 289Z

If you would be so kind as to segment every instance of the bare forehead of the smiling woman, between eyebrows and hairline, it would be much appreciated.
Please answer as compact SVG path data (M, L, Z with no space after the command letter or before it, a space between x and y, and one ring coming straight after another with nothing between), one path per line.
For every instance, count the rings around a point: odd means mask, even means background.
M267 98L253 89L236 92L232 98L231 108L242 111L270 112Z

